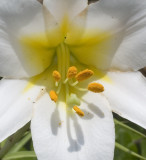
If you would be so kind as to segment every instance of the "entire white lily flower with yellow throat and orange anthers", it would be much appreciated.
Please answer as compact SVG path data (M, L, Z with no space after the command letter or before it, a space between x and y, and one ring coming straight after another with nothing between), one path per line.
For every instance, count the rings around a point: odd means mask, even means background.
M43 5L0 3L0 140L31 120L39 160L112 160L112 111L146 128L146 1Z

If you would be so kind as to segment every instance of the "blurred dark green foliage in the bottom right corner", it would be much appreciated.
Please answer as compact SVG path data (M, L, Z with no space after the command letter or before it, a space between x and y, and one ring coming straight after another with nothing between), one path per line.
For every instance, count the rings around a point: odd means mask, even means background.
M133 124L130 121L119 117L116 114L114 114L114 117L120 120L122 123L146 135L146 130L137 126L136 124ZM146 157L146 138L118 124L115 124L115 130L116 130L116 142L122 144L131 151L134 151L137 154ZM136 158L132 156L131 153L129 152L126 153L116 147L114 160L141 160L141 158Z

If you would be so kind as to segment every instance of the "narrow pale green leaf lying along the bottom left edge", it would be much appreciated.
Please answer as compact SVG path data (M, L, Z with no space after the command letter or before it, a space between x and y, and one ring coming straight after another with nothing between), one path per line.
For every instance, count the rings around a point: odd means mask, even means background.
M33 151L21 151L15 153L7 154L2 160L11 160L11 159L22 159L22 158L36 158L35 152Z

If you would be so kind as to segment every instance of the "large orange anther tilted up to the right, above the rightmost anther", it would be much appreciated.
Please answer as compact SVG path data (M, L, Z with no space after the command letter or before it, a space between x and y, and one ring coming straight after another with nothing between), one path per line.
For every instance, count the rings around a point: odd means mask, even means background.
M94 72L92 70L85 69L85 70L79 72L75 78L77 81L83 81L83 80L90 78L93 74L94 74Z

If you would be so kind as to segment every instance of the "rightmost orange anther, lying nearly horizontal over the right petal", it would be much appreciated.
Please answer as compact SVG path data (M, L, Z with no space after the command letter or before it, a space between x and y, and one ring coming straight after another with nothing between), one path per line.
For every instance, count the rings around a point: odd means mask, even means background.
M102 84L94 82L94 83L90 83L88 85L88 90L92 91L92 92L95 92L95 93L100 93L100 92L104 91L104 87L103 87Z

